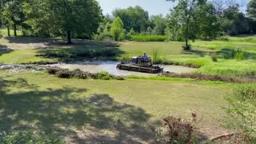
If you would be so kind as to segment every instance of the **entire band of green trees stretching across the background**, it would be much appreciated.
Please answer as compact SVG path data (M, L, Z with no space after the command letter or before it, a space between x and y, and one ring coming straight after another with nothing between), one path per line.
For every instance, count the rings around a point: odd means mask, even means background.
M256 0L246 12L235 0L166 0L178 2L170 14L150 16L140 6L102 15L96 0L2 0L1 25L37 37L130 39L133 35L165 35L167 40L211 39L220 35L256 34Z

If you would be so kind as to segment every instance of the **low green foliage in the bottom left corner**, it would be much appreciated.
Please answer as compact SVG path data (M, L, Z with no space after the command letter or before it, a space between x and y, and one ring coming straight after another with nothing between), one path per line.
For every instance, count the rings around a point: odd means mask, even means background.
M14 134L6 134L5 132L0 133L0 143L2 144L47 144L47 143L55 143L61 144L58 138L52 138L47 136L46 134L39 134L36 136L30 131L14 133Z

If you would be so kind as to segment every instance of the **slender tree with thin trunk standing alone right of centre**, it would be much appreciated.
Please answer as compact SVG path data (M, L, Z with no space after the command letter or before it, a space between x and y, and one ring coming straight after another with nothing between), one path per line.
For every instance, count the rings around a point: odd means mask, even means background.
M175 0L167 0L174 2ZM186 46L184 50L190 50L189 40L196 38L198 33L197 18L195 10L203 0L178 0L178 5L171 11L171 17L177 19L178 25L182 31L182 37L185 39Z

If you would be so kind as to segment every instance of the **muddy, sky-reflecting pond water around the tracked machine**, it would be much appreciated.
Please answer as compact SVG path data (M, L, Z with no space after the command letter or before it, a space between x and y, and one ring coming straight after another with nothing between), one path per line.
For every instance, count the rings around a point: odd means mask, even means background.
M58 63L54 65L47 65L47 66L58 66L63 69L80 69L83 71L87 71L90 73L98 73L101 71L106 71L110 74L118 75L118 76L127 76L127 75L154 75L154 74L146 74L146 73L139 73L139 72L132 72L126 70L117 70L118 62L114 61L104 61L104 62L69 62L69 63ZM169 71L173 73L190 73L194 71L194 68L184 67L184 66L172 66L172 65L159 65L164 67L164 71Z

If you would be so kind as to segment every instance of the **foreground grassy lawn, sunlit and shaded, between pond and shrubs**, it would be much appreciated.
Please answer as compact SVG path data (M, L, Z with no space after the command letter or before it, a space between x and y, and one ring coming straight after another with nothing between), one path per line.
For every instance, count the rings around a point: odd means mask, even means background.
M0 130L46 131L69 142L152 142L170 114L216 130L230 84L127 79L61 79L46 73L0 70Z

